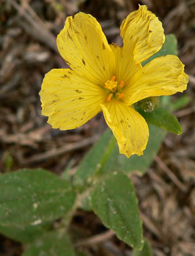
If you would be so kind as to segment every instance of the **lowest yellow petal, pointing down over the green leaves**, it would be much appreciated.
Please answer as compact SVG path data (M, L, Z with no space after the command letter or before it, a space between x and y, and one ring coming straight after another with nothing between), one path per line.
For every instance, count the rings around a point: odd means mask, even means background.
M141 156L149 139L149 127L145 119L120 100L101 104L101 108L107 125L116 137L120 154L128 158L132 154Z

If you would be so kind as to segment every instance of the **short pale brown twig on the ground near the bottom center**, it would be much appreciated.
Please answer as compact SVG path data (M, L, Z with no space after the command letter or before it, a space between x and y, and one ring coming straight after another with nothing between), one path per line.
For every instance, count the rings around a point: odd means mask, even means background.
M75 246L99 244L101 242L105 242L105 240L109 240L114 235L115 232L113 230L108 230L102 234L98 234L96 236L91 236L90 238L80 240L75 244Z

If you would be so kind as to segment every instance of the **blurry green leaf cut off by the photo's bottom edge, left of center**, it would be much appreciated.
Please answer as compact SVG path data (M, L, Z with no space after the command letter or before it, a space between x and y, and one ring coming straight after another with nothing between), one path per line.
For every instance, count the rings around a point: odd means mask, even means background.
M30 244L22 256L75 256L75 251L66 234L54 231Z

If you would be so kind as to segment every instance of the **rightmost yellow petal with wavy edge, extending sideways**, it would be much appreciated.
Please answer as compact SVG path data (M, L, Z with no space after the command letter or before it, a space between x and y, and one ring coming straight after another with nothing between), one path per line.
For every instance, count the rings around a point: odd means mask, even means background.
M154 58L133 75L130 86L124 88L124 102L127 105L150 96L173 95L183 92L188 83L184 65L174 55Z

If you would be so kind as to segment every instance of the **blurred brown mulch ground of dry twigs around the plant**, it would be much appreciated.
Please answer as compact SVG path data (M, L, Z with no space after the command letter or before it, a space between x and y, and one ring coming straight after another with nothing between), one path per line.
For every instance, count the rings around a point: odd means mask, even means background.
M102 114L72 131L52 129L41 115L39 91L44 74L65 68L56 48L56 35L65 18L79 11L101 23L109 43L120 43L120 24L138 3L146 4L162 21L165 33L175 33L179 58L190 81L186 105L175 112L183 135L169 133L147 175L133 175L144 235L155 256L194 255L194 0L23 0L0 1L0 170L44 167L57 174L73 173L106 125ZM171 97L176 100L177 94ZM152 135L155 136L155 135ZM69 147L69 150L67 148ZM93 237L105 228L93 213L77 211L71 230ZM0 236L0 255L21 255L22 246ZM84 245L90 255L131 255L115 236Z

